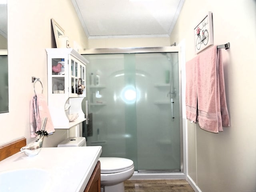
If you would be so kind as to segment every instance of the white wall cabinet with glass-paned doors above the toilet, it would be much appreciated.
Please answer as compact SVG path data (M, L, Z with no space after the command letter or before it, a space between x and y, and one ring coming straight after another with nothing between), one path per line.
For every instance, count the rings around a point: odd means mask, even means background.
M82 100L86 97L86 88L83 94L77 94L76 86L86 85L86 60L72 48L48 48L48 108L52 117L55 129L70 129L85 119L82 111ZM61 59L64 58L64 74L52 71ZM65 111L65 105L70 104L70 108ZM68 114L78 113L78 118L74 122L69 122Z

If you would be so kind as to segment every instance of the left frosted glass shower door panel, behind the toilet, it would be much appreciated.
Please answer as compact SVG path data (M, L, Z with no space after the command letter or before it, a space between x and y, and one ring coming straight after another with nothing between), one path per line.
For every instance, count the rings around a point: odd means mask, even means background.
M136 90L135 57L130 54L84 57L90 62L86 66L86 99L91 121L86 133L87 146L102 146L102 157L128 158L137 168L136 97L132 92ZM99 84L93 81L96 75L100 77Z

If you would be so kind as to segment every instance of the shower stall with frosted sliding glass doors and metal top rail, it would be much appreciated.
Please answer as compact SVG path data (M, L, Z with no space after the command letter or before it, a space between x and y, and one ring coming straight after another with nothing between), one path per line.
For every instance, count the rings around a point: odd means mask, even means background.
M133 160L138 175L183 173L179 50L85 50L87 146L102 146L102 157Z

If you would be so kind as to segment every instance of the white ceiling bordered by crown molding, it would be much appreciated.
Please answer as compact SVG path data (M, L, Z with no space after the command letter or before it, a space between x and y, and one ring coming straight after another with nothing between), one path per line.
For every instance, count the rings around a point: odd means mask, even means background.
M169 37L184 0L72 0L89 39Z

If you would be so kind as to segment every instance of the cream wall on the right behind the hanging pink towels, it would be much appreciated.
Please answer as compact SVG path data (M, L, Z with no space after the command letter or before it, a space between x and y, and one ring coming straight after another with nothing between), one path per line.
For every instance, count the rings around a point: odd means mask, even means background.
M222 50L230 127L206 132L188 122L188 176L202 192L256 191L256 1L185 1L170 41L186 44L186 61L194 54L193 29L212 11L214 44Z

